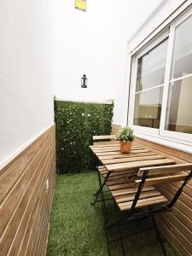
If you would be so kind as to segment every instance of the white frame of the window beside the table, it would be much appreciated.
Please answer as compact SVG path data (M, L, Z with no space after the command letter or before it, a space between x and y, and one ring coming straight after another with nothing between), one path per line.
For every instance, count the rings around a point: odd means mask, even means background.
M192 74L185 75L181 78L177 79L170 79L171 78L171 69L172 69L172 52L174 47L174 39L175 39L175 29L179 26L184 20L187 20L189 16L192 15L192 9L189 9L181 17L176 17L169 25L169 31L165 32L160 38L156 39L152 44L148 47L143 49L142 52L138 54L134 52L131 61L131 89L130 89L130 101L129 101L129 114L128 120L130 125L134 131L138 134L143 134L143 136L151 136L156 137L158 139L165 139L170 140L173 143L183 143L185 145L192 146L192 134L177 132L177 131L166 131L166 109L167 109L167 102L168 102L168 95L169 95L169 84L171 82L191 77ZM139 125L133 125L134 120L134 108L135 108L135 95L136 95L136 84L137 84L137 60L144 54L146 54L150 49L153 49L156 45L163 42L166 38L168 38L168 45L167 45L167 55L166 55L166 73L165 73L165 80L164 80L164 90L163 90L163 98L162 98L162 107L161 107L161 114L160 114L160 129L143 127ZM151 39L151 38L150 38ZM162 84L154 86L154 88L160 87ZM151 90L151 89L150 89ZM144 90L143 90L144 91Z

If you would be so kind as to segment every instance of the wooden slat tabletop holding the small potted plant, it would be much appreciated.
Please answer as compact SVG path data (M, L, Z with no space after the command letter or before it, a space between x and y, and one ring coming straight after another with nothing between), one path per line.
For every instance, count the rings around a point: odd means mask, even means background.
M108 171L124 171L127 169L141 168L148 166L164 166L175 164L175 160L160 154L153 148L144 147L139 143L133 143L131 152L123 154L119 150L119 144L102 144L90 146L90 149L106 166Z

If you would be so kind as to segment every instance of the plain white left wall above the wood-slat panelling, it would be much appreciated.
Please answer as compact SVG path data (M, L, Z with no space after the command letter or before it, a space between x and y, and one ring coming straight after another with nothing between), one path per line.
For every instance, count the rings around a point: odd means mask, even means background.
M54 122L51 1L0 1L0 166Z

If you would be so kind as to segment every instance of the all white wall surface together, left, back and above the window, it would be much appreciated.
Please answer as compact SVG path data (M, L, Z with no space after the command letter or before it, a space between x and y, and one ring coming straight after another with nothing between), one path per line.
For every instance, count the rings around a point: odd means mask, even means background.
M113 122L125 125L129 50L180 3L88 0L84 13L72 0L0 1L0 166L53 124L53 70L57 97L113 98ZM88 89L80 88L83 73Z

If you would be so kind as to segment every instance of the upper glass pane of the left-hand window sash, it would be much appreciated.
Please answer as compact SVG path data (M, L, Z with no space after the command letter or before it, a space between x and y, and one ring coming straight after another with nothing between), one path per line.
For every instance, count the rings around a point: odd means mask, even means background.
M137 61L136 91L164 84L167 39Z

